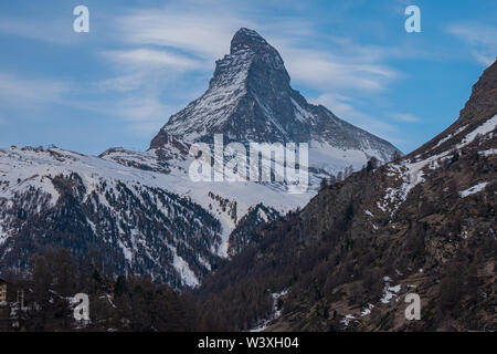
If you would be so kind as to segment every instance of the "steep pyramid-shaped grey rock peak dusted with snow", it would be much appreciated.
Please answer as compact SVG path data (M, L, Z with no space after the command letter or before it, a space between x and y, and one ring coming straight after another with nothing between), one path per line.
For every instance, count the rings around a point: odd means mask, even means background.
M290 86L278 52L258 33L241 29L230 54L216 62L208 91L170 117L150 148L168 139L226 144L308 143L309 165L317 175L337 175L350 165L359 169L370 157L389 162L398 149L390 143L338 118L326 107L309 104Z

